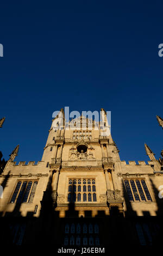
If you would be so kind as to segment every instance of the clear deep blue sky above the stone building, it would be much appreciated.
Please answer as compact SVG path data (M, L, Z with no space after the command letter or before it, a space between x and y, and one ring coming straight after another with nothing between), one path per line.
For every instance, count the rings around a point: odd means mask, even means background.
M41 160L52 113L111 111L121 160L160 157L162 1L2 1L0 150Z

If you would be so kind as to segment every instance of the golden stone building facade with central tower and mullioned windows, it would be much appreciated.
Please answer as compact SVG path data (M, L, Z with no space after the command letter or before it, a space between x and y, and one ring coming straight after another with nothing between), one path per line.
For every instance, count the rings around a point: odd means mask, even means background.
M162 216L163 199L159 198L159 186L163 185L162 158L156 160L145 144L148 164L121 161L111 135L102 136L100 127L89 130L88 119L84 117L77 123L83 122L85 130L79 130L79 126L76 130L66 130L63 126L55 131L51 126L38 163L17 164L14 160L18 146L12 151L0 176L1 223L4 229L12 230L8 242L29 245L55 241L55 245L64 245L66 241L67 245L73 242L75 245L77 237L73 241L73 235L64 240L65 225L78 222L87 223L87 228L89 222L99 225L99 240L95 241L93 236L93 245L96 242L108 245L109 239L114 243L115 237L120 243L128 239L142 244L140 229L144 243L155 242L152 235L149 239L147 229L149 232L154 229ZM144 230L142 220L148 225L149 217L153 226ZM4 242L5 235L4 232ZM81 237L84 241L84 236Z

